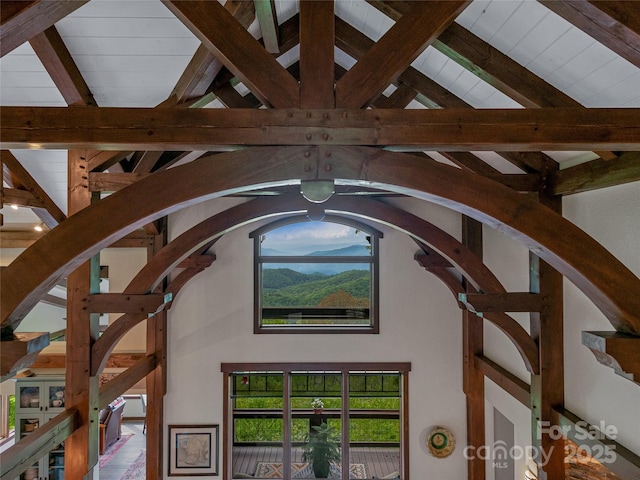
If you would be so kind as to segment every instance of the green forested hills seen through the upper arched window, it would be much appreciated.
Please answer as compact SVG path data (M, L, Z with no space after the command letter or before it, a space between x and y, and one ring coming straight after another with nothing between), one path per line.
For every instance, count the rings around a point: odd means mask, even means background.
M329 276L270 268L263 271L262 285L262 305L265 307L317 306L323 298L339 290L368 305L371 275L368 270L349 270Z

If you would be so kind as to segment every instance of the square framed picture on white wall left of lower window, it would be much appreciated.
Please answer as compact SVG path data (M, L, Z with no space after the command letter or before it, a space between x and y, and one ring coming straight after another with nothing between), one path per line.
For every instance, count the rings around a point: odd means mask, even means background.
M169 425L169 476L218 475L218 425Z

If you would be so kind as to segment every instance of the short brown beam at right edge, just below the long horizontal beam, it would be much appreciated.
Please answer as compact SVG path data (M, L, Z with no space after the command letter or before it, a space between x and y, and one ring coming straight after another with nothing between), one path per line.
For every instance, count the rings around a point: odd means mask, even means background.
M551 195L573 195L640 181L640 152L623 152L617 160L596 159L553 172Z

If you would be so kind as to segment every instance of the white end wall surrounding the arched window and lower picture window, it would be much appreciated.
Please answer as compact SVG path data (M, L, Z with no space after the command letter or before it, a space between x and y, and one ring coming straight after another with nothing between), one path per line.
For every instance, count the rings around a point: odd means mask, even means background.
M207 209L216 211L216 202L174 215L171 237L208 216ZM431 212L434 221L459 225L457 214L440 207L423 211ZM434 480L465 478L462 449L436 459L425 447L426 435L435 426L449 428L459 441L466 436L462 330L453 295L413 260L415 243L378 226L384 233L379 335L254 335L253 245L248 234L255 228L245 226L219 240L213 266L187 284L173 303L166 424L222 425L222 362L411 362L411 475L421 478L428 471Z

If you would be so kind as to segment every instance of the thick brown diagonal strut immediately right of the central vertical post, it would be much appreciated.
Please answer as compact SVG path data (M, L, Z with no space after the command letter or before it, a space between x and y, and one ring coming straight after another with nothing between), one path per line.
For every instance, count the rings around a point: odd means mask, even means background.
M363 108L407 69L468 5L467 0L416 2L336 83L336 106Z

